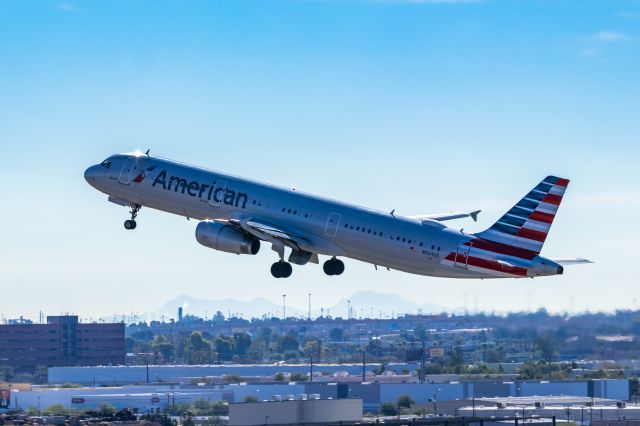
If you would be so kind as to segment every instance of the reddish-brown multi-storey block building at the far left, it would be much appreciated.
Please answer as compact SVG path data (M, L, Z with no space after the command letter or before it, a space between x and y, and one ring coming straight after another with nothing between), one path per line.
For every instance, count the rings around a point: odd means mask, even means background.
M0 325L0 365L110 365L125 359L124 324L85 324L77 316L49 316L46 324Z

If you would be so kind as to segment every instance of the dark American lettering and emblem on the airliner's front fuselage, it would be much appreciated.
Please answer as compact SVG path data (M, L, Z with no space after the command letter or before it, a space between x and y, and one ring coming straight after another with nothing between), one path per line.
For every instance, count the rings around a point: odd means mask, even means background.
M145 172L151 171L147 169ZM141 174L144 175L143 172ZM140 179L140 182L144 179L144 176ZM247 200L249 196L244 192L236 192L233 189L226 188L225 185L213 182L211 184L201 183L195 180L188 181L180 176L170 176L167 178L167 171L161 171L158 176L153 180L151 186L159 185L166 191L181 192L191 197L198 197L201 200L208 202L214 202L216 204L224 203L228 206L247 208Z

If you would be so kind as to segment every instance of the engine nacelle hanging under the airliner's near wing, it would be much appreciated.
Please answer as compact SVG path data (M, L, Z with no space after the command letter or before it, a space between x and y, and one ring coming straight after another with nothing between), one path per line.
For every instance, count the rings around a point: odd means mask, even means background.
M216 222L203 221L196 227L196 240L205 247L235 254L256 254L260 250L260 240L221 225Z

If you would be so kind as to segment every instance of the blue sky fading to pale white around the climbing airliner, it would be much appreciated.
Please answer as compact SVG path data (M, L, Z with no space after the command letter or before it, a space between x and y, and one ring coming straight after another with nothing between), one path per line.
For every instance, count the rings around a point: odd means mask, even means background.
M543 254L561 277L454 281L197 244L194 221L83 179L146 150L401 214L482 209L571 179ZM360 290L416 303L632 308L640 238L640 2L0 1L0 312L147 312L179 294L304 309Z

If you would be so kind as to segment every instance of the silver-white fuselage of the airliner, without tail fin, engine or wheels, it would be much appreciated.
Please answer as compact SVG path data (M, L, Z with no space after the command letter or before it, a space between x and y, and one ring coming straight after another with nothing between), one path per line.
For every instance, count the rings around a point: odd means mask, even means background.
M439 222L425 224L157 157L120 154L108 160L109 167L88 169L87 180L131 205L198 220L259 219L304 238L309 242L304 249L316 254L349 257L414 274L514 277L508 271L456 262L458 253L464 254L459 259L466 259L470 250L473 254L475 249L464 244L475 237Z

